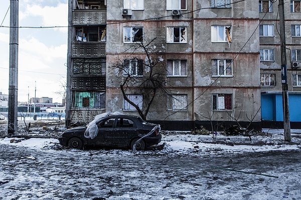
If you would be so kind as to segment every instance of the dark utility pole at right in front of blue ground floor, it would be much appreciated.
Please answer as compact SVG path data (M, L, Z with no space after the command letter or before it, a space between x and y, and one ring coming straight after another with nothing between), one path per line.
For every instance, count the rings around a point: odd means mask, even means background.
M284 0L279 0L278 7L279 7L279 20L280 20L280 43L281 43L280 45L281 45L281 83L282 83L282 104L283 104L283 129L284 129L284 140L290 141L290 120L289 120L289 109L288 109Z

